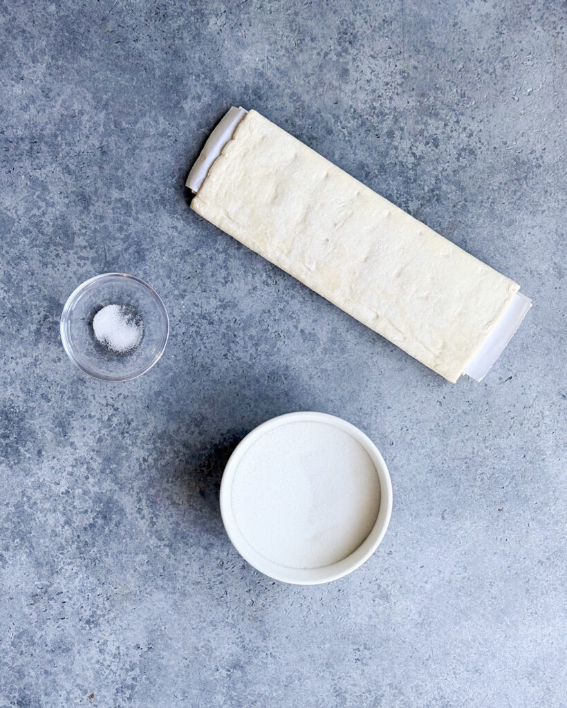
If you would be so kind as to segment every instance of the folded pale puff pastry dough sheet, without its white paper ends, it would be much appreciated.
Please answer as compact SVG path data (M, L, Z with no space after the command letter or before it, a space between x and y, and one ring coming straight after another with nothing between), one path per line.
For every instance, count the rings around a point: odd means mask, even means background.
M191 207L451 382L519 290L255 110Z

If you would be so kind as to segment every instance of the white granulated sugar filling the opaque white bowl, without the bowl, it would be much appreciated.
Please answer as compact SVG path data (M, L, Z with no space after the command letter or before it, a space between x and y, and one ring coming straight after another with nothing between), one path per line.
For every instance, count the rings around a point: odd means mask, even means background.
M320 568L365 541L377 519L380 484L366 450L326 423L287 423L256 440L236 469L236 525L265 558Z

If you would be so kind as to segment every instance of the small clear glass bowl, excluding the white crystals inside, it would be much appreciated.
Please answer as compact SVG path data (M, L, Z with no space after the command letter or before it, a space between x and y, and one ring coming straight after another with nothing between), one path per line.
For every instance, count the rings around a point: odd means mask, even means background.
M142 317L142 340L131 352L113 352L94 336L93 318L108 304L133 308ZM146 282L125 273L103 273L71 293L60 331L64 349L79 369L103 381L128 381L145 374L164 353L169 319L161 298Z

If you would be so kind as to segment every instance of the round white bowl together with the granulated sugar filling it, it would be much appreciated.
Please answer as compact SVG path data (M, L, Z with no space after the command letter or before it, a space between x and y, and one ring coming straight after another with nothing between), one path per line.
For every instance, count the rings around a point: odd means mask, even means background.
M287 413L246 435L220 505L239 553L276 580L312 585L364 563L384 537L391 481L362 430L325 413Z

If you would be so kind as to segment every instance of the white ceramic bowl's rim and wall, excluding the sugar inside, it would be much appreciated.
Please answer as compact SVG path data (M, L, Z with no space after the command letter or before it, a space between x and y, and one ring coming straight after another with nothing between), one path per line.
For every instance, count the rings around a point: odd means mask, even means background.
M367 452L367 455L369 455L372 460L378 475L380 488L379 510L377 519L374 522L374 526L370 530L369 535L350 555L336 563L320 568L290 568L265 558L265 556L260 554L251 546L242 534L236 523L232 506L231 497L234 476L241 460L246 455L246 452L248 452L251 445L265 435L265 433L268 433L270 430L273 430L278 426L283 426L291 422L326 423L328 426L333 426L338 430L348 433ZM362 430L359 430L351 423L347 423L347 421L343 421L342 418L328 416L326 413L287 413L284 416L272 418L270 421L262 423L262 425L258 426L258 428L254 428L251 433L246 435L244 440L241 440L229 458L227 466L224 468L220 489L222 521L236 550L241 554L241 556L243 556L244 559L246 559L246 561L248 561L248 563L254 566L254 568L261 573L270 576L270 578L275 578L275 580L282 581L284 583L294 583L296 585L316 585L318 583L328 583L329 581L342 578L361 566L365 561L367 561L367 559L370 558L382 541L382 538L386 533L386 528L389 524L391 506L392 491L390 475L388 468L386 467L386 463L384 462L382 455L380 455L376 445L374 445L372 440L370 440L365 433L362 433Z

